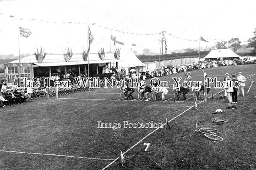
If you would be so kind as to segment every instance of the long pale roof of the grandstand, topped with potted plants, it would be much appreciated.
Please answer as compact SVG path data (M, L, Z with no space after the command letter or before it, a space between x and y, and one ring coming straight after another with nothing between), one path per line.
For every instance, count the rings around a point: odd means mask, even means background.
M118 62L114 57L114 53L105 53L104 60L101 60L98 53L89 53L87 61L84 61L83 55L80 53L73 54L69 62L64 59L64 54L46 54L42 63L38 63L35 55L30 55L21 59L21 63L33 63L39 66L59 66L59 65L78 65L78 64L97 64L97 63L110 63ZM19 60L14 60L10 62L19 63Z

